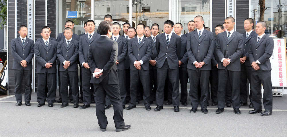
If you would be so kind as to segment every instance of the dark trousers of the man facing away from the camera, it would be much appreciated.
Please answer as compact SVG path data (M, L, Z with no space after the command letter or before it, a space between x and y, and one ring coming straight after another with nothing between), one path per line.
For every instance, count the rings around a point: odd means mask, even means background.
M120 129L125 126L123 119L123 107L121 102L120 87L119 84L108 85L108 77L103 79L100 84L94 84L94 98L96 101L96 115L98 118L98 124L101 129L106 128L108 120L105 115L104 109L105 98L108 96L114 109L114 122L116 129Z

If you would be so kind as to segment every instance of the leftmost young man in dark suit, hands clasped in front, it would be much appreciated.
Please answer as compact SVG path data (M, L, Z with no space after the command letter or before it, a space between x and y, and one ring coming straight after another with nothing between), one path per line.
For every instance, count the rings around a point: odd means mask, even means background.
M30 106L32 84L32 58L34 56L34 41L27 38L28 28L19 27L20 36L11 41L11 54L14 58L12 69L15 73L16 106L22 105L22 93L25 92L25 105ZM21 86L24 83L24 91Z

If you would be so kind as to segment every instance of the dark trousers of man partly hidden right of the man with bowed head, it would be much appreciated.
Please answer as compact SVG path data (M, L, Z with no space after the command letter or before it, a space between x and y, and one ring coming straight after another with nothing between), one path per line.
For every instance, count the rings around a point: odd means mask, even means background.
M179 67L179 82L181 84L180 101L187 102L187 81L188 74L186 67Z

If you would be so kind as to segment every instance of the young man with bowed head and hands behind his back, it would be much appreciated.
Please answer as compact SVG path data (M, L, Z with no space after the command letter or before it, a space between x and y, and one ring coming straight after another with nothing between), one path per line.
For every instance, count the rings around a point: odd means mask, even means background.
M179 112L179 58L181 52L181 37L172 33L173 22L164 22L164 33L156 37L157 52L157 80L158 89L156 91L156 108L154 111L162 109L164 100L164 85L166 77L172 85L172 105L174 111Z

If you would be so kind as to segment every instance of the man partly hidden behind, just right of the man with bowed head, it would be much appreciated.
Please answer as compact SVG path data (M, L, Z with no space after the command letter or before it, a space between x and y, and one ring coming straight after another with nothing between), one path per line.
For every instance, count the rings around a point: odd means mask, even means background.
M174 24L174 32L178 36L181 37L181 58L179 58L179 82L181 84L181 96L180 101L182 105L187 105L187 50L186 50L186 42L187 42L187 35L182 35L183 26L181 23Z

